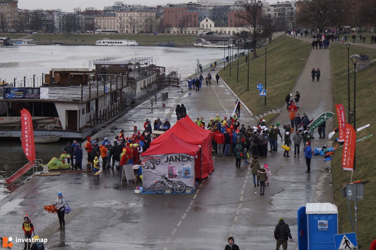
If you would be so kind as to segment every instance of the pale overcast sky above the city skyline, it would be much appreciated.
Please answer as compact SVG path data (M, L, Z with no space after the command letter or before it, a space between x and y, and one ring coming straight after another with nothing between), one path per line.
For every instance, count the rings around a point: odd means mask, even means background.
M195 1L195 0L189 0ZM126 4L143 4L148 6L153 5L162 5L165 3L183 3L188 2L188 0L131 0L131 1L123 1ZM277 0L270 0L269 3L276 3ZM70 12L73 10L74 7L81 6L81 9L85 9L85 7L95 7L96 9L103 9L104 6L111 6L114 4L112 0L64 0L64 1L56 1L56 0L18 0L18 8L19 9L62 9L63 11Z

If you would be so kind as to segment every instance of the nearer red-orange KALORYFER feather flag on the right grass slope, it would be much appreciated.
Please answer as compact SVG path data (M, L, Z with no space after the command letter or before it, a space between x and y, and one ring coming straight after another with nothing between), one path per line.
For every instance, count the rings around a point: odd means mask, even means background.
M349 123L345 123L345 133L342 150L342 168L344 170L353 171L356 135L355 129Z

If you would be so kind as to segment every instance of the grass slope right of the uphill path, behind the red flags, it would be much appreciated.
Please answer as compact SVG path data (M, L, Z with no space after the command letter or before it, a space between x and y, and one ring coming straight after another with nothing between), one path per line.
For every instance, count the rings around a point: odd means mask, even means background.
M348 90L347 90L347 49L343 44L333 44L331 51L332 78L333 82L333 103L342 103L344 108L348 108ZM361 46L352 46L350 55L352 54L370 54L370 60L376 58L376 49L364 48ZM354 65L350 59L350 70L354 69ZM368 123L371 127L363 129L356 133L356 138L374 134L372 128L376 124L375 115L375 76L376 64L372 63L368 69L356 73L356 127L362 127ZM353 110L354 100L354 72L350 72L350 107ZM334 108L335 110L335 108ZM346 114L346 120L348 115ZM337 126L337 119L334 119ZM338 136L338 133L335 135ZM353 181L369 180L364 185L365 201L357 202L358 207L358 237L362 249L369 249L371 241L375 238L374 223L376 217L376 156L374 152L375 137L360 141L356 144L356 169L353 171ZM333 189L335 196L335 204L338 206L338 230L342 232L351 232L351 224L349 220L349 212L347 210L346 199L342 198L341 188L350 183L351 171L345 171L341 168L342 148L336 151L332 160ZM350 202L352 217L354 214L354 202ZM355 222L354 227L355 227Z

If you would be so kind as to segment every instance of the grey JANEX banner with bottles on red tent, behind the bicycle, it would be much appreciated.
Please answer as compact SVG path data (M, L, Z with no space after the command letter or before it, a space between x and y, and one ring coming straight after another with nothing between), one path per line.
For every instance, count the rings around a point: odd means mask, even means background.
M170 180L182 181L187 189L195 189L195 157L189 154L159 154L141 156L143 189L154 191L154 184L165 174ZM168 188L168 187L167 187Z

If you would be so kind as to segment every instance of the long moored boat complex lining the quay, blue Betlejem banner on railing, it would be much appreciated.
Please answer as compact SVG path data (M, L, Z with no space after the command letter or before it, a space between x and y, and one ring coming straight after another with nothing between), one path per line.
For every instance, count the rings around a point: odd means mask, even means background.
M21 113L32 115L35 136L86 138L158 88L165 67L155 58L90 61L90 68L53 68L41 77L0 85L0 137L21 136Z

